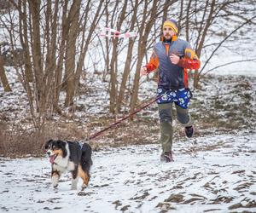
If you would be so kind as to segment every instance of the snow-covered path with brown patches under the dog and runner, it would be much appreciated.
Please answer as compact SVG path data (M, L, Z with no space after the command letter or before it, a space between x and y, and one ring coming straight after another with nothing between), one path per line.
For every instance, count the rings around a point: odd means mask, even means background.
M96 152L84 192L69 175L54 190L47 158L1 158L0 211L256 212L255 133L179 141L174 163L159 158L159 145Z

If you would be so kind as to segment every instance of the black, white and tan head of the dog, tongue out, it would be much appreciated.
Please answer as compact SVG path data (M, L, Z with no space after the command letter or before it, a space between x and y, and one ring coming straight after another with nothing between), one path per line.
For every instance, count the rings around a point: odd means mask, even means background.
M65 158L67 156L66 150L66 141L61 140L49 140L45 143L45 151L49 156L49 162L53 164L55 162L55 158L62 157Z

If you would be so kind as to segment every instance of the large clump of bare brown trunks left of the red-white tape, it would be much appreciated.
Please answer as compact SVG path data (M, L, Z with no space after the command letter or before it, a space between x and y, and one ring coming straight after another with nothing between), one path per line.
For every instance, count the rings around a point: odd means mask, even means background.
M10 2L18 11L19 25L12 19L10 12L10 25L5 26L9 30L13 49L16 47L16 32L19 32L25 66L17 67L17 72L28 95L34 124L39 130L44 125L45 116L49 111L55 109L61 113L58 106L63 70L66 71L64 81L67 82L65 104L73 105L73 96L78 89L84 57L97 21L101 17L103 0L97 4L99 7L96 9L89 33L85 32L86 26L89 26L90 9L93 5L90 0L85 2L82 14L81 1ZM81 45L78 45L79 41Z

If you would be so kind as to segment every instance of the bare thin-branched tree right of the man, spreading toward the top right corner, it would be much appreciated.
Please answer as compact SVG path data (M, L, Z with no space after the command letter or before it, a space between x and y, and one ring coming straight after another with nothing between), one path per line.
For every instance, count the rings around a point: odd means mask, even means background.
M201 71L195 71L194 76L194 87L198 87L200 76L202 71L205 69L207 64L212 59L212 56L222 47L222 45L228 41L231 36L241 29L241 26L251 24L255 18L253 11L250 11L250 5L253 5L251 1L241 1L241 0L228 0L228 1L217 1L217 0L207 0L201 1L196 0L187 2L187 12L183 26L185 28L185 35L189 42L192 42L195 46L196 54L201 57L202 52L207 49L207 38L208 37L218 37L216 28L218 28L218 23L225 23L226 20L234 17L234 23L239 22L240 24L230 26L230 28L225 29L227 35L222 35L219 37L219 42L212 44L216 46L215 49L208 50L210 56L207 58L203 64ZM234 13L234 11L237 13ZM240 11L238 13L238 11ZM215 27L215 30L212 28ZM229 33L230 31L230 33ZM192 41L191 41L192 40Z

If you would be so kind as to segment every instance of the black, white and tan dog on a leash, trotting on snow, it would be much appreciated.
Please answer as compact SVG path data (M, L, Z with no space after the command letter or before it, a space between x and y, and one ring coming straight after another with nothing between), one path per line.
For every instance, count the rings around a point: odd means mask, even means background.
M71 189L77 189L79 177L83 179L82 190L90 181L92 165L91 147L88 143L78 141L49 140L45 143L45 151L51 163L51 181L58 187L61 174L70 171L72 176Z

